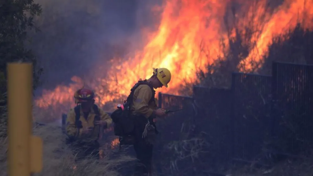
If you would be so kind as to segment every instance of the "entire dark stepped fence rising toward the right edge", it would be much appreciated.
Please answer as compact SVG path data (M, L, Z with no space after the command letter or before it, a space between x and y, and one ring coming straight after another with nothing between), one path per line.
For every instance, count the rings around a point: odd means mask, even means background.
M159 106L180 106L188 98L167 97ZM208 134L214 162L313 145L313 65L274 62L272 76L233 73L230 89L194 86L192 98L197 128Z

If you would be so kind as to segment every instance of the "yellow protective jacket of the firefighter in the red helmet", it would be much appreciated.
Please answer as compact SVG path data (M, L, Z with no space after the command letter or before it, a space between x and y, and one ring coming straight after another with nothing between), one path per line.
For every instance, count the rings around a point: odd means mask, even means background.
M100 113L100 120L105 121L107 123L107 127L109 127L112 123L111 117L102 109L98 108L98 110ZM81 121L82 128L80 128L78 132L78 128L75 125L76 114L75 114L74 108L70 109L66 118L67 135L69 137L74 137L80 140L88 140L88 141L97 140L99 132L100 132L100 126L96 125L95 127L94 125L95 115L96 115L95 111L93 110L93 108L91 108L91 111L89 112L87 119L85 119L84 113L80 107L80 119L79 120ZM88 134L82 134L83 130L87 128L92 128L93 131Z

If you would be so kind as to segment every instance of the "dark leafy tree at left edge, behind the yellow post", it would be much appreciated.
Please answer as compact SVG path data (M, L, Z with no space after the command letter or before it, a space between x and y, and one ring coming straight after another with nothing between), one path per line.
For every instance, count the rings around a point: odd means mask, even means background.
M6 131L6 64L22 61L33 63L33 89L39 85L42 69L32 50L27 48L30 42L28 31L38 28L33 18L41 13L41 7L33 0L2 0L0 2L0 135Z

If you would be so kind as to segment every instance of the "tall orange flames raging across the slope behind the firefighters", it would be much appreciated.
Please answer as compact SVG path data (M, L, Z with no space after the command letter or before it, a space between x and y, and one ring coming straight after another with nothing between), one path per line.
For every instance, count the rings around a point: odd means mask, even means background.
M111 65L110 69L100 69L104 65L99 64L95 70L103 74L94 75L92 80L84 82L74 76L72 84L45 90L35 100L35 105L43 111L52 110L54 114L50 115L59 118L59 113L74 106L74 91L84 83L96 91L100 106L120 103L139 78L151 76L152 67L166 67L172 72L169 87L159 91L178 94L181 86L196 81L198 69L205 70L206 65L213 64L218 56L223 58L228 51L228 39L235 37L236 28L243 31L240 35L247 34L248 29L255 31L252 37L243 41L254 44L240 64L249 70L253 67L251 61L262 63L262 55L267 54L273 37L294 28L299 21L303 22L304 28L313 27L311 0L285 0L275 8L269 8L268 2L164 0L159 8L162 14L158 30L143 34L149 41L144 48L133 53L134 57L112 58L110 63L105 63ZM240 7L237 12L231 12L232 4ZM225 25L225 19L231 25Z

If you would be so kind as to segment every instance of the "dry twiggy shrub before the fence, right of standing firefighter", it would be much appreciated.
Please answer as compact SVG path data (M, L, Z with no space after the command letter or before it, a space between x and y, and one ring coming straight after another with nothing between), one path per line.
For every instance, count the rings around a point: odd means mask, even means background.
M175 108L174 108L175 109ZM197 113L192 101L184 104L184 110L166 119L157 119L160 134L154 146L153 162L156 175L197 175L201 158L210 148L208 142L195 129Z

